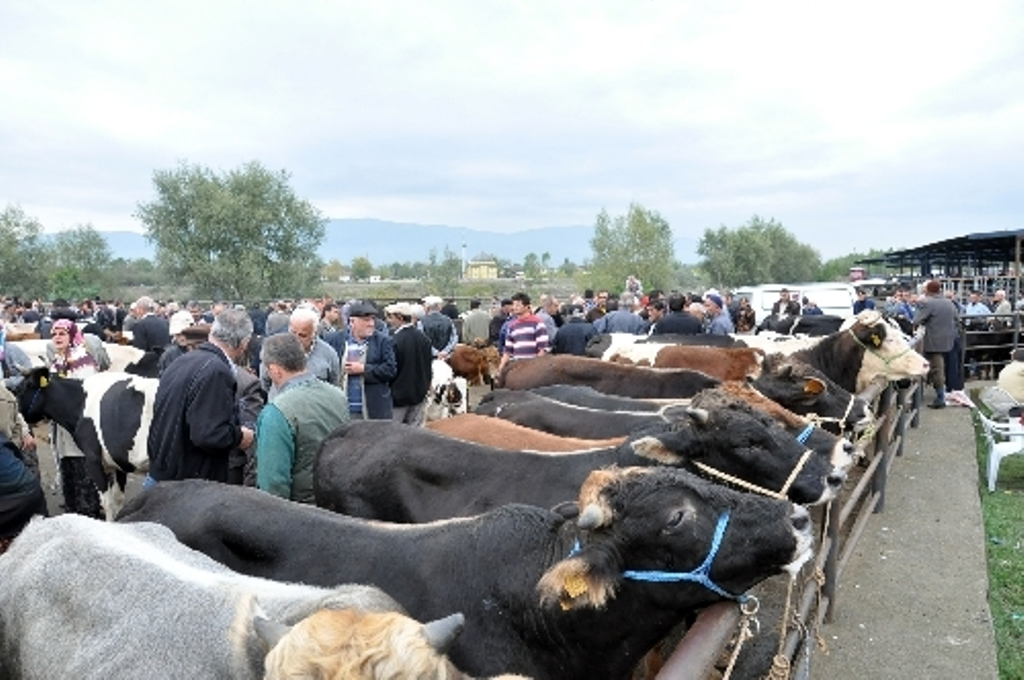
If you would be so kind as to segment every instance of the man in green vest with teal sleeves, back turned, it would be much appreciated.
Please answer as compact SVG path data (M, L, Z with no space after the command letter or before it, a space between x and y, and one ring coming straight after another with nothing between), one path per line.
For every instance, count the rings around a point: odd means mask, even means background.
M306 353L291 333L263 340L260 360L275 395L256 421L256 485L313 503L313 458L321 442L348 422L348 399L306 371Z

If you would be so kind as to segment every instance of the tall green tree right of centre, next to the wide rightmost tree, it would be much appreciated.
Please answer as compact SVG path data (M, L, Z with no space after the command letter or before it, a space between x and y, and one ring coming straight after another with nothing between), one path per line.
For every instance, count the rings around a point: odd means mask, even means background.
M621 291L630 274L645 290L669 288L675 268L672 227L654 211L631 203L626 215L597 216L590 240L592 288Z

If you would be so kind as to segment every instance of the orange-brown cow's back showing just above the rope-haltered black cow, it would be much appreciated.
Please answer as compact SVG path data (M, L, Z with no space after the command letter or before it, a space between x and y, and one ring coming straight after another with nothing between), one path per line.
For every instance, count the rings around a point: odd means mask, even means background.
M617 447L626 440L624 436L611 437L610 439L563 437L517 425L500 418L477 416L471 413L435 420L428 423L427 428L447 437L463 441L475 441L505 451L583 451Z

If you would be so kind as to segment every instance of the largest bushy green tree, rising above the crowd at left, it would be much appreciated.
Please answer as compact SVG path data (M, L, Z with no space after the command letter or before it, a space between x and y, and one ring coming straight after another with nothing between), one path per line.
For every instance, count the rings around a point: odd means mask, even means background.
M135 216L159 264L197 295L245 300L300 296L319 279L313 255L326 220L295 196L290 175L259 163L215 174L181 163L154 172L157 199Z

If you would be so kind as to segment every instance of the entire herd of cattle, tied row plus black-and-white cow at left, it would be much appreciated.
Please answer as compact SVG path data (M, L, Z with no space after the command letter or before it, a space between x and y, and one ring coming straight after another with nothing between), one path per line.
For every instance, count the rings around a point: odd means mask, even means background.
M870 311L746 338L610 336L501 376L460 352L431 389L450 417L324 440L318 507L203 480L125 502L155 381L37 370L19 408L85 442L112 521L37 519L0 555L0 677L629 678L697 609L796 576L872 423L857 393L928 371Z

